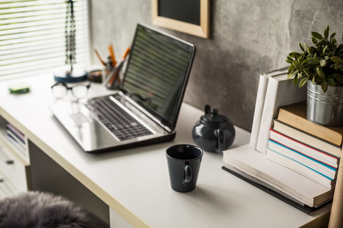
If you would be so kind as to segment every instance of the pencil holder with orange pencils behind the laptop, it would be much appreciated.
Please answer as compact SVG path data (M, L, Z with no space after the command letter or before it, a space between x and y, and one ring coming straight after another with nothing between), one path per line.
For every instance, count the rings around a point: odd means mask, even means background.
M103 84L107 89L118 90L121 85L122 77L121 70L124 61L116 65L116 67L111 66L111 64L106 64L103 69Z

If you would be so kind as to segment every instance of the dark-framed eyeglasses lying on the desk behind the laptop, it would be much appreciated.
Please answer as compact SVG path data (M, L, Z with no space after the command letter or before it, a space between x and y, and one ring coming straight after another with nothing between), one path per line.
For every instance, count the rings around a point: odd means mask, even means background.
M76 84L73 86L68 86L64 82L57 82L55 85L51 86L52 93L57 99L62 99L67 96L68 91L71 90L72 95L76 99L81 99L87 97L88 89L91 84Z

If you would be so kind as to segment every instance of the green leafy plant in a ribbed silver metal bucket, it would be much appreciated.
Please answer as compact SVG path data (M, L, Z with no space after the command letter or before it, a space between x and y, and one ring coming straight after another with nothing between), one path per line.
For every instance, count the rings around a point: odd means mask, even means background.
M343 124L343 44L329 36L329 26L321 35L311 32L315 46L299 43L301 53L291 52L288 79L294 85L307 84L307 119L324 126ZM343 41L343 36L342 36Z

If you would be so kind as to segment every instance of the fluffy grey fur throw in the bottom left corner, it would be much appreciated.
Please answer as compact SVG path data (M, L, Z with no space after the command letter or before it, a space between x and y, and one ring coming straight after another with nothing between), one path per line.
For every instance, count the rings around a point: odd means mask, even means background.
M0 200L0 228L108 228L74 202L44 192Z

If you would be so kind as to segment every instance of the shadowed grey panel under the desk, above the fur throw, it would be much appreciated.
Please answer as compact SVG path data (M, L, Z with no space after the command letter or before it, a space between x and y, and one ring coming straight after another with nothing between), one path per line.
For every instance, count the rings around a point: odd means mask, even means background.
M32 190L72 200L109 224L109 206L29 141ZM120 226L119 226L120 227Z

